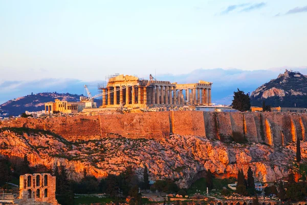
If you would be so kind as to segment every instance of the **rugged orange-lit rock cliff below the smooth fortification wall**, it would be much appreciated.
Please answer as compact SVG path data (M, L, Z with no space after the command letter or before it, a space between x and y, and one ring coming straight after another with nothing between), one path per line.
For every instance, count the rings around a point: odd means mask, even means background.
M301 142L301 148L302 159L306 160L307 142ZM274 148L177 134L160 140L121 137L72 142L48 131L3 128L0 153L9 157L28 154L30 166L52 168L62 163L73 179L80 179L84 168L100 178L118 174L129 165L141 177L146 165L150 179L178 179L181 187L188 187L208 169L226 177L237 174L238 169L247 174L251 166L260 181L280 179L288 175L289 164L295 158L295 143Z

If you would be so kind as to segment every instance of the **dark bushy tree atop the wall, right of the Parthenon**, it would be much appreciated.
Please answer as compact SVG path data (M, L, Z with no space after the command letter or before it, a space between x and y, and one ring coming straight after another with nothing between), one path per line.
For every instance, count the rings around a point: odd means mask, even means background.
M251 108L249 94L245 94L239 89L237 92L233 92L232 108L241 112L248 111Z

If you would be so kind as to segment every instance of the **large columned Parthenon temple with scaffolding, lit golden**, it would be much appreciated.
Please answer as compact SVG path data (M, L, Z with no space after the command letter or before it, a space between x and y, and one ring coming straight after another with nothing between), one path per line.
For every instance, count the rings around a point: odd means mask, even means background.
M118 75L109 79L102 92L102 107L210 105L212 83L177 84L170 81Z

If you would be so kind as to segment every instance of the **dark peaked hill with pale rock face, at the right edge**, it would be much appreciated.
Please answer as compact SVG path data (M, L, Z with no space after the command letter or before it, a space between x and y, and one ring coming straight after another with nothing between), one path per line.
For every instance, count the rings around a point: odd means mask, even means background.
M286 70L251 94L251 105L261 106L265 100L271 107L307 107L307 76Z

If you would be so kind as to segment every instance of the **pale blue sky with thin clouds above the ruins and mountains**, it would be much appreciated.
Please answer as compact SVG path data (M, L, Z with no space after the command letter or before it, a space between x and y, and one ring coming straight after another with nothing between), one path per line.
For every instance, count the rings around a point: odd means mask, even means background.
M0 0L0 103L33 90L83 93L72 87L114 73L201 72L223 84L216 75L265 70L250 76L260 86L306 68L306 36L306 0Z

